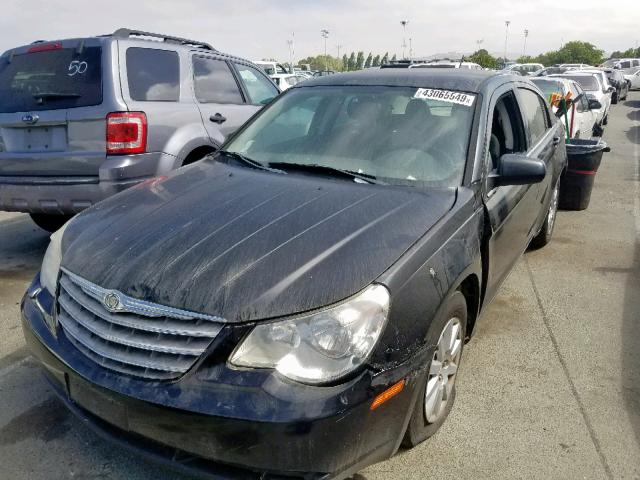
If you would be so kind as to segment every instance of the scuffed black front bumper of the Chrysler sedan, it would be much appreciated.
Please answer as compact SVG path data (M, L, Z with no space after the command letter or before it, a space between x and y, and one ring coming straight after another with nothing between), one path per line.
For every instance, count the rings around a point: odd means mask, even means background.
M25 338L67 406L99 433L211 478L346 478L393 455L415 401L407 366L330 387L231 369L231 339L243 333L224 330L178 381L119 375L84 357L63 331L54 335L44 318L47 300L38 300L23 300ZM403 378L405 389L372 411L375 396Z

